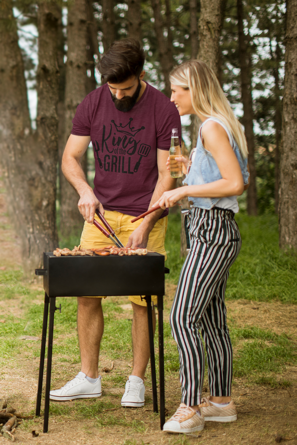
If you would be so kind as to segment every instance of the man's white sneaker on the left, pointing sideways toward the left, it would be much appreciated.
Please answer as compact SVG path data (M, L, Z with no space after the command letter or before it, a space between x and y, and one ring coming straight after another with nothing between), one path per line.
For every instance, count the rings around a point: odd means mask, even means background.
M100 397L101 395L101 376L99 375L97 382L91 383L86 379L86 374L80 371L73 380L67 382L61 389L50 391L49 399L89 399L89 397Z

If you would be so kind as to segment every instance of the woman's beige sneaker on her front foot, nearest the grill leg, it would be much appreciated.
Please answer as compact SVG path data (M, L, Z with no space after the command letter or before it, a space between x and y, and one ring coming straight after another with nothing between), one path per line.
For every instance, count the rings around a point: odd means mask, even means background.
M204 428L204 417L200 409L199 415L195 409L181 403L171 419L164 424L163 431L167 433L194 433Z

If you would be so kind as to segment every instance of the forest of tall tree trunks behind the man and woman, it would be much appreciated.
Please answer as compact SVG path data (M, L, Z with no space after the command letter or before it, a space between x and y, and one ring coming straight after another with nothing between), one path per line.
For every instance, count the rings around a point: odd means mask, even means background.
M296 11L295 0L1 1L0 156L25 271L81 229L60 160L77 105L100 85L96 63L125 37L142 41L146 80L168 96L176 64L198 57L214 69L247 137L241 208L279 213L280 246L295 249ZM183 124L187 154L198 122ZM92 147L83 167L92 184Z

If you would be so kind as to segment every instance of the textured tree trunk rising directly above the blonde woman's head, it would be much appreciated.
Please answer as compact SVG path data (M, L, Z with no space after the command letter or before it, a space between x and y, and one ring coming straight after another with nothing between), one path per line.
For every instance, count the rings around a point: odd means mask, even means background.
M200 1L198 58L207 63L216 75L219 72L222 7L222 0Z

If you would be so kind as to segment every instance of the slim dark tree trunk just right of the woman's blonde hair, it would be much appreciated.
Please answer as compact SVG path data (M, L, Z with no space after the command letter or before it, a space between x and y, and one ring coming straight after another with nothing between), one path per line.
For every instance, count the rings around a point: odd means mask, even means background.
M248 54L248 45L244 34L244 10L242 0L237 0L238 18L238 40L239 40L239 63L241 74L241 95L244 107L242 123L245 127L248 149L248 166L250 183L247 189L247 213L257 215L257 189L256 189L256 166L255 166L255 142L253 134L253 109L251 95L251 58Z

